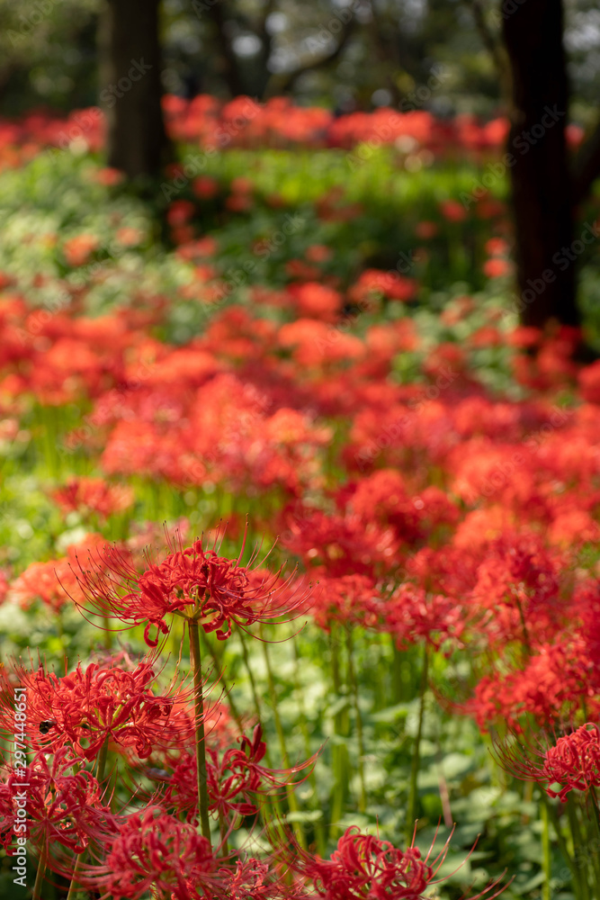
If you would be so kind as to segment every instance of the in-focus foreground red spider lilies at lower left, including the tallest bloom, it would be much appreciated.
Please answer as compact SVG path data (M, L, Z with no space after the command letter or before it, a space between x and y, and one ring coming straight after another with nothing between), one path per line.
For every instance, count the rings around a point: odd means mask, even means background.
M189 622L200 621L206 631L219 626L219 636L227 639L232 622L250 625L261 617L280 617L295 606L290 590L284 591L283 601L273 599L279 572L272 578L260 570L252 572L239 559L205 551L201 541L143 572L136 572L129 560L125 564L116 550L104 550L101 560L93 575L80 569L85 597L107 602L112 615L126 623L142 621L144 609L151 623L160 607L165 631L166 614L183 613ZM348 589L352 586L349 577ZM355 586L359 592L366 587L360 578ZM18 747L33 752L28 760L17 747L0 779L4 847L10 847L22 818L19 788L25 786L27 837L40 853L42 875L49 867L72 878L73 885L106 892L116 900L139 900L148 890L164 900L342 900L396 896L399 890L407 900L420 900L427 887L443 880L435 876L447 843L430 862L431 851L422 859L414 842L400 851L358 829L346 831L328 861L281 840L273 842L269 860L229 853L228 836L260 815L263 798L293 789L298 783L294 779L312 761L291 770L265 767L260 725L251 737L239 734L234 744L237 725L226 707L201 705L199 712L198 689L205 685L199 686L198 674L194 670L193 691L185 679L178 679L166 693L157 693L153 661L134 664L124 653L102 663L79 663L64 676L48 673L44 666L4 670L0 734L4 739L13 734L16 685L27 698ZM107 776L109 754L115 762ZM117 784L123 779L118 758L160 784L143 806L138 803L127 812L116 809L114 800L113 779ZM200 759L206 798L196 777ZM87 768L90 763L95 775ZM210 824L204 830L202 804L207 816L218 819L218 846L210 841Z

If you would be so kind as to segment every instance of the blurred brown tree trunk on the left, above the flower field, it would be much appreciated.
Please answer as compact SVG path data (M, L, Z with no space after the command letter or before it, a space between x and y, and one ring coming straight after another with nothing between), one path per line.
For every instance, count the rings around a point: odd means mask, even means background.
M154 176L168 142L160 106L160 0L106 0L102 23L103 89L108 164L128 177Z

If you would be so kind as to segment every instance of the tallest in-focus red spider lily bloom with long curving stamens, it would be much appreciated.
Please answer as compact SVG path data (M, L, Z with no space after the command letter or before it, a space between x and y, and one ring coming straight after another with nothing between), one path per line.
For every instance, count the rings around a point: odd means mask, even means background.
M282 581L282 567L277 572L264 571L257 578L250 568L256 552L248 566L240 564L246 532L237 560L219 556L216 544L217 539L213 548L206 550L201 540L196 540L160 563L148 561L148 569L141 574L118 548L109 547L91 571L80 568L78 582L95 612L109 613L130 627L146 622L148 646L158 643L158 638L150 635L152 626L158 633L168 634L166 616L170 613L198 621L205 632L214 631L223 641L231 635L234 623L248 626L304 608L306 590L290 590L293 575Z

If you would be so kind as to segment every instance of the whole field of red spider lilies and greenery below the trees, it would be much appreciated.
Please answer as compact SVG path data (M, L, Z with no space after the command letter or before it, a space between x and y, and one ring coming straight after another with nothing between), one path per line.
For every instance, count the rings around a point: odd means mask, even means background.
M194 103L150 202L0 128L1 896L599 897L600 363L504 123Z

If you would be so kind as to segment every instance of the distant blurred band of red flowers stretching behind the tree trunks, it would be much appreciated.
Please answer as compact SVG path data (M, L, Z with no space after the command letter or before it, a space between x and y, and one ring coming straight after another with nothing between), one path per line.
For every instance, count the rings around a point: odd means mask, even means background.
M273 97L256 103L239 96L228 103L209 94L184 100L173 94L163 99L166 126L172 138L200 142L204 147L343 147L366 141L397 143L399 148L426 148L435 154L461 149L480 153L504 146L506 119L480 122L461 114L452 121L437 119L431 112L398 112L381 108L374 112L351 112L335 116L321 107L296 106L288 97ZM102 147L103 113L97 107L70 112L67 118L34 112L18 121L0 120L0 147L26 148L31 156L40 146L64 148L76 139L93 150ZM568 136L577 145L583 132L569 126ZM11 157L5 154L8 165Z

